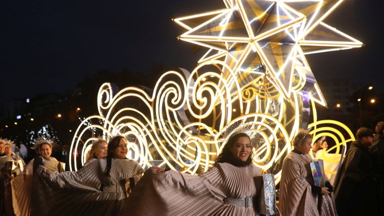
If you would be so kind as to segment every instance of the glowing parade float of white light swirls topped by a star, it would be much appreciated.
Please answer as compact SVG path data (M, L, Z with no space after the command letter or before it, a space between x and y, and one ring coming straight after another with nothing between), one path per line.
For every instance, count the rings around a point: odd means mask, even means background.
M85 118L73 138L71 154L81 159L71 158L70 169L82 166L97 136L122 134L129 138L128 157L143 167L167 164L200 174L225 144L227 125L236 122L254 124L261 135L254 163L273 172L276 183L301 127L313 126L314 138L329 136L340 153L354 137L340 122L317 121L315 103L326 103L305 54L361 47L321 22L342 2L224 0L226 9L175 19L187 29L181 40L209 51L192 72L164 73L154 90L117 92L104 83L99 115Z

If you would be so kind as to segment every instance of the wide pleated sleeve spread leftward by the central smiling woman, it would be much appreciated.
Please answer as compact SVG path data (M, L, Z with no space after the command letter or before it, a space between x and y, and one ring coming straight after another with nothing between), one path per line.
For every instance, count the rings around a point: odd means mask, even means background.
M222 204L201 178L169 170L148 169L129 195L122 215L209 215ZM202 214L200 214L202 213Z

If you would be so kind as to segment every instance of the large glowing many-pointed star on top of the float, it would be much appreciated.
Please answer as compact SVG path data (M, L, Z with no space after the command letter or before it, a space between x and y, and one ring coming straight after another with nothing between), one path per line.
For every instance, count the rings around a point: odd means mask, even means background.
M322 23L343 1L224 0L226 9L174 21L188 30L181 40L210 49L200 62L221 59L241 80L266 76L286 99L292 90L304 90L325 106L304 55L362 46Z

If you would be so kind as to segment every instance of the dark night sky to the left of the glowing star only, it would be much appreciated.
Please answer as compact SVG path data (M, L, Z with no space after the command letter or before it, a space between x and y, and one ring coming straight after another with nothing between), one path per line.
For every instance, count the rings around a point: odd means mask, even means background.
M171 19L221 9L219 1L23 1L2 4L0 101L72 89L100 70L192 69L193 45Z

